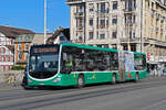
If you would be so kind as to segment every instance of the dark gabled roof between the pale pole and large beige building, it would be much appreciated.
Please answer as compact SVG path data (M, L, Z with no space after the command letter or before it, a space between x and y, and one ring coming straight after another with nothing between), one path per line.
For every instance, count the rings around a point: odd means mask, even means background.
M61 33L63 33L64 36L70 41L70 29L63 29L63 28L61 28L61 29L56 30L56 31L53 33L53 35L46 40L46 43L48 43L48 44L53 44L53 41L54 41Z

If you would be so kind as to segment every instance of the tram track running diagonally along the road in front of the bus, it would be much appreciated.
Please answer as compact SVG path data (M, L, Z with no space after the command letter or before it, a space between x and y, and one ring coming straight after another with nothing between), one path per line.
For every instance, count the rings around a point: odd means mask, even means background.
M144 85L143 85L144 84ZM87 90L84 92L84 89L77 90L77 92L72 92L69 95L64 95L63 92L60 95L51 95L50 98L44 98L44 99L38 99L33 101L25 101L25 102L20 102L20 103L13 103L13 105L8 105L8 106L0 106L0 110L2 109L11 109L11 108L17 108L17 107L22 107L21 109L35 109L39 107L43 106L50 106L50 105L58 105L61 102L69 102L69 101L76 101L76 100L82 100L82 99L87 99L87 98L93 98L93 97L100 97L100 96L106 96L106 95L114 95L114 94L121 94L121 92L128 92L128 91L134 91L138 89L145 89L145 88L153 88L153 87L160 87L165 86L166 81L153 81L152 82L142 82L142 85L132 85L128 87L117 87L117 88L97 88L97 90ZM82 92L80 92L82 91ZM1 101L1 100L0 100ZM24 107L24 108L23 108Z

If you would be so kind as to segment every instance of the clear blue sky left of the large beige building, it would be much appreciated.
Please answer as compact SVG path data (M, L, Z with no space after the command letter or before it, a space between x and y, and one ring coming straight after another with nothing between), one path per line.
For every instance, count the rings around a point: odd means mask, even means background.
M0 0L0 25L44 32L44 0ZM66 0L48 0L48 31L70 28Z

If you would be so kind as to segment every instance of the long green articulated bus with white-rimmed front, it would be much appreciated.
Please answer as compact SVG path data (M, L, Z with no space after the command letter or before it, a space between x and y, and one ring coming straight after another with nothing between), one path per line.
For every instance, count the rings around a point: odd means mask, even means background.
M146 54L82 44L33 45L28 87L77 86L144 79Z

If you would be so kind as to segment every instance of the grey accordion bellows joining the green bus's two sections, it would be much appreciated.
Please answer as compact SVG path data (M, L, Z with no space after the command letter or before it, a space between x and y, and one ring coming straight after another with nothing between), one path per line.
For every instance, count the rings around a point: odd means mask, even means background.
M125 59L124 59L124 52L118 52L118 74L120 74L120 81L125 81Z

